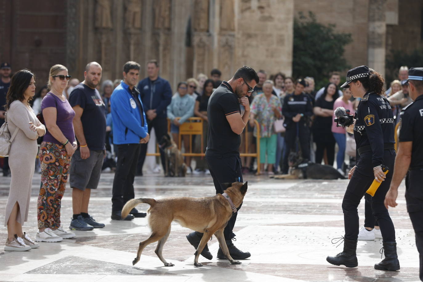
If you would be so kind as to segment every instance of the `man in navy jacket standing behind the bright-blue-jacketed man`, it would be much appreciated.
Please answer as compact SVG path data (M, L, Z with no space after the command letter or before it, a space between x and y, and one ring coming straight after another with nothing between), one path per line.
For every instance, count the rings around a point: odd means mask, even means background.
M138 83L141 100L146 110L148 133L154 127L156 139L159 141L168 131L168 119L166 108L172 101L172 89L166 79L159 77L159 64L157 60L147 63L148 77ZM147 144L141 145L140 159L138 161L137 175L143 175L143 165L146 159ZM165 167L165 154L160 151L163 169Z

